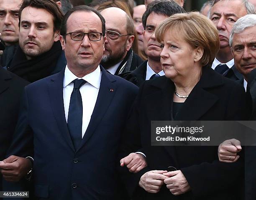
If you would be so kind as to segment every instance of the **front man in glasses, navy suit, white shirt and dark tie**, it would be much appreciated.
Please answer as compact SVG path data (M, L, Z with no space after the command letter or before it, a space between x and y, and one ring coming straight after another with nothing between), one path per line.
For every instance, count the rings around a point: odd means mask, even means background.
M17 161L31 156L39 199L125 199L116 173L117 152L138 88L99 66L105 20L95 9L72 8L60 40L67 66L26 87L8 151L16 161L0 164L1 172L11 181Z

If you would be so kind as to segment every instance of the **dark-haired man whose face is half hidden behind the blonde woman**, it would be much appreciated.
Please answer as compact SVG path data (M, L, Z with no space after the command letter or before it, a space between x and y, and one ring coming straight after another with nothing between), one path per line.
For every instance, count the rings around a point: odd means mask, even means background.
M171 1L154 1L148 5L146 12L143 14L142 23L144 27L144 49L148 60L141 63L138 68L129 73L125 79L136 86L141 86L145 80L164 76L160 63L161 45L156 41L154 31L156 27L169 16L175 13L183 13L185 10Z

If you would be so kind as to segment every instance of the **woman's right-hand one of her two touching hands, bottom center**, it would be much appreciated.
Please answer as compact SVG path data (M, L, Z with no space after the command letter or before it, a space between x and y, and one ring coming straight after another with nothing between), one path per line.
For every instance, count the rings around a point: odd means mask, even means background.
M191 190L181 170L163 173L163 175L168 176L168 178L164 180L164 183L173 195L182 195Z

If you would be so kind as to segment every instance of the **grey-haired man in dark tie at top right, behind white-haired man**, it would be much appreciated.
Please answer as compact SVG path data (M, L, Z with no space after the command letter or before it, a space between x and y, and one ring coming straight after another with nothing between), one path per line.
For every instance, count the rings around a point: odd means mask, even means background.
M234 66L229 47L230 32L239 18L253 13L253 5L243 0L215 0L210 11L210 20L218 29L220 37L220 50L212 63L212 69L234 81L243 76Z

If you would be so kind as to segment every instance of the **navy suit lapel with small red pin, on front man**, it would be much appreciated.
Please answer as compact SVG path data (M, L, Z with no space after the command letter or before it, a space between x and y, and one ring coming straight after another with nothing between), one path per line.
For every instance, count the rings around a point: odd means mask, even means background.
M102 117L105 115L117 89L117 84L113 84L116 81L113 78L113 75L108 74L102 67L100 69L102 71L102 76L99 94L92 112L90 123L77 150L79 150L90 139L95 129L100 124Z

